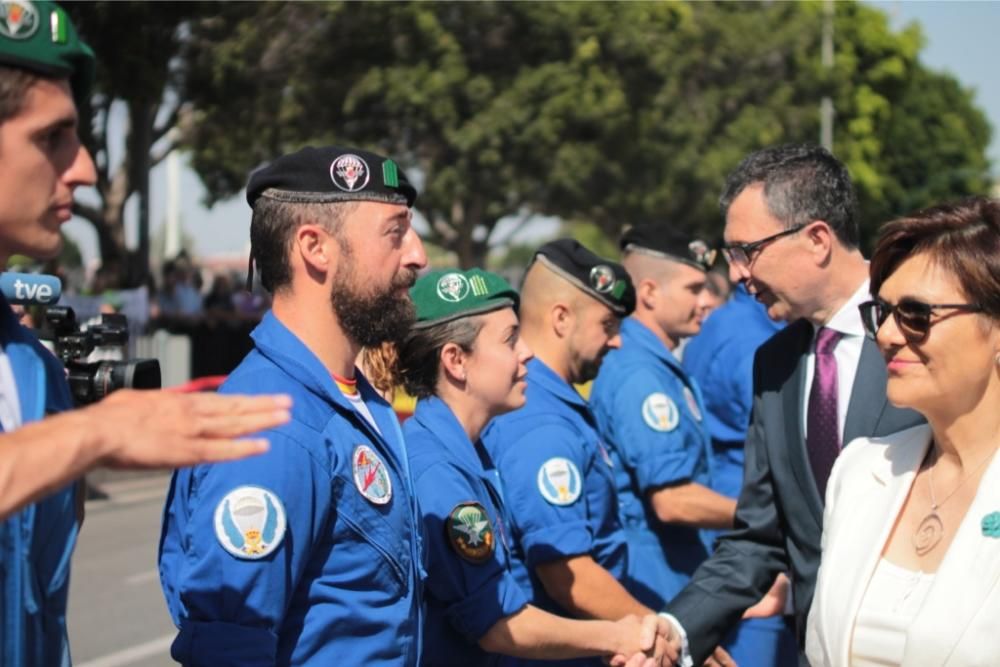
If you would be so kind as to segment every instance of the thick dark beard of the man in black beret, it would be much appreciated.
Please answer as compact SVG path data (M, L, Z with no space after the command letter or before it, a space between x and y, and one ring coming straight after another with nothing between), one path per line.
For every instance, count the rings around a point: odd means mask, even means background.
M348 265L348 266L345 266ZM354 262L344 262L334 276L330 293L333 312L347 336L362 347L398 343L416 321L416 309L409 294L399 292L417 280L417 272L402 269L386 288L364 289L363 278L354 270Z

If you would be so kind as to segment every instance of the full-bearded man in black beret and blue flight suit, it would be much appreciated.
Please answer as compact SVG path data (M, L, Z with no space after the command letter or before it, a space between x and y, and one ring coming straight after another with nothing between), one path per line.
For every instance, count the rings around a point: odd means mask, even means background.
M182 664L419 664L422 547L405 446L354 368L362 346L413 321L405 288L426 264L415 197L391 160L335 147L250 178L252 257L274 305L221 391L280 390L294 409L266 433L264 456L174 476L160 576Z

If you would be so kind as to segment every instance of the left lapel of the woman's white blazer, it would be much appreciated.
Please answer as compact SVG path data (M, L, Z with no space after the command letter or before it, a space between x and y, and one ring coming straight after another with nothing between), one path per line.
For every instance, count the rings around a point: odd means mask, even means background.
M832 599L843 603L837 605L834 615L839 627L831 634L836 642L832 652L835 665L850 664L854 622L861 601L930 444L930 429L926 427L903 433L901 439L893 435L874 442L861 439L851 445L868 448L865 458L869 465L843 471L858 479L845 480L848 483L841 493L838 513L847 511L841 513L837 535L832 536L840 542L840 548L831 550L830 557L841 561L832 567L842 575L830 582L841 589L840 593L831 591ZM827 558L827 554L823 557Z

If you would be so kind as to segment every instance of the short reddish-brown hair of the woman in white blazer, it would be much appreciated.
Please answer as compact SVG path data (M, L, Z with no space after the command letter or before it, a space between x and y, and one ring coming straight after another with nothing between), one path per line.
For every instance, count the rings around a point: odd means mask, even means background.
M950 271L970 302L1000 318L1000 202L973 197L887 222L872 255L872 294L918 253Z

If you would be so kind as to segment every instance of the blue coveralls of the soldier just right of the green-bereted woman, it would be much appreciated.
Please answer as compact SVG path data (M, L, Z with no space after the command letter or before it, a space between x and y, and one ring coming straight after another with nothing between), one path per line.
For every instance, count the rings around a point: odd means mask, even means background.
M587 403L537 358L528 362L527 384L525 406L495 418L482 440L500 472L512 517L514 575L532 604L565 616L535 568L589 554L622 580L628 548L611 459Z

